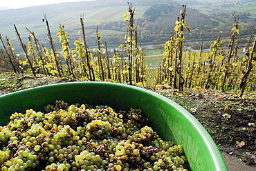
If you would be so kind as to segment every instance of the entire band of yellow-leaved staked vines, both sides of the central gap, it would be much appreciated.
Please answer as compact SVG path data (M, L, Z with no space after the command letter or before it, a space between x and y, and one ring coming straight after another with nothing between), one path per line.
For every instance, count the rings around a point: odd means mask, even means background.
M53 77L73 77L83 81L112 81L118 83L147 84L172 86L179 90L183 88L205 88L226 90L240 90L240 97L244 90L255 90L256 70L255 66L255 44L253 40L255 30L248 37L246 52L244 57L238 56L239 46L237 34L239 34L239 21L234 19L234 27L230 37L230 44L227 51L221 46L221 36L216 41L212 41L210 52L203 54L203 41L200 43L200 53L190 50L185 55L183 50L184 32L190 31L185 21L186 6L182 7L181 16L176 20L176 27L171 33L170 41L165 43L163 60L158 68L147 69L143 49L138 46L138 29L134 26L134 8L128 3L129 10L124 14L127 22L127 34L125 34L124 44L120 45L122 55L114 50L109 56L107 42L102 42L102 35L95 26L95 37L98 41L98 48L93 52L89 50L86 43L83 17L80 17L82 30L81 35L73 44L75 49L70 48L68 32L64 26L60 26L58 37L62 46L62 52L57 53L53 41L48 20L44 15L48 30L48 41L51 50L41 46L30 31L28 44L22 41L21 36L15 26L17 39L23 48L26 59L17 60L12 42L9 39L0 39L6 51L12 69L20 74L25 70L30 70L36 76L37 73ZM205 62L203 59L208 59ZM154 76L152 79L148 79Z

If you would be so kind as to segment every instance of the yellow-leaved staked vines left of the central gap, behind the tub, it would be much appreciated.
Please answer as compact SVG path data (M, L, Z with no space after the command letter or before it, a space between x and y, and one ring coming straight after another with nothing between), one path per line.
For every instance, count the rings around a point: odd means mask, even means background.
M80 38L73 44L71 49L68 41L68 32L64 30L64 26L60 26L56 37L62 46L62 52L57 52L55 42L51 34L48 19L44 14L43 22L46 23L48 30L48 42L51 50L39 44L34 32L28 28L30 32L29 41L26 45L21 39L17 27L17 39L24 50L25 59L17 59L12 42L6 38L0 39L3 48L6 51L12 69L17 74L22 72L31 72L36 74L45 74L49 77L71 77L83 81L115 81L119 83L146 83L146 66L144 64L143 50L138 47L137 29L134 27L134 8L129 5L129 13L124 14L125 22L127 22L127 34L125 35L124 44L120 45L122 54L114 50L113 56L109 57L107 42L102 42L102 35L95 26L95 37L98 42L98 48L89 50L86 42L83 17L80 17L81 28L78 32ZM119 50L119 51L120 51Z

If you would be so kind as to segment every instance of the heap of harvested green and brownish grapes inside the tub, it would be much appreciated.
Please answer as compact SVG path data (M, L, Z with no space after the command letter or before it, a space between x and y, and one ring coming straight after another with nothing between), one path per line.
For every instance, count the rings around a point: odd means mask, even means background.
M47 105L0 126L1 171L188 171L181 145L163 141L140 109Z

